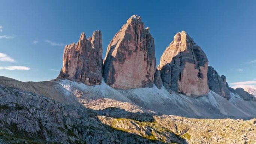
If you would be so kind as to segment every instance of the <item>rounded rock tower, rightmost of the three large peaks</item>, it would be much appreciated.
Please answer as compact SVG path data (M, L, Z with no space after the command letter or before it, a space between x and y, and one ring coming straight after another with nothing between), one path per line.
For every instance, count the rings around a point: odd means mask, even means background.
M186 95L198 96L209 91L208 59L185 31L177 33L161 56L162 81L167 89Z

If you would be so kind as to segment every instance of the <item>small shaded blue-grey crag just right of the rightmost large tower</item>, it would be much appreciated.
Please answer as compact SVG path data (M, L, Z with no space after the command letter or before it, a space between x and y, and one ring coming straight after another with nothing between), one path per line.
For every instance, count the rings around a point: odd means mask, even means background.
M214 70L213 67L209 66L207 77L210 90L216 92L226 99L230 98L230 92L226 83L226 76L222 75L220 77L217 71Z

